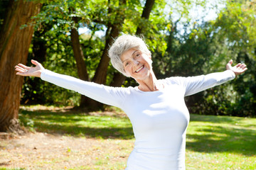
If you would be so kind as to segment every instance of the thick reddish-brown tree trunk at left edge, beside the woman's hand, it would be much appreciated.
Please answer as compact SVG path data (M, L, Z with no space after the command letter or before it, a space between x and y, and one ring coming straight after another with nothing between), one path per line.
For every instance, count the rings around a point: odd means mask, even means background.
M9 1L0 32L0 131L18 132L18 108L23 78L16 76L14 66L26 64L33 26L20 29L39 13L41 4L32 1Z

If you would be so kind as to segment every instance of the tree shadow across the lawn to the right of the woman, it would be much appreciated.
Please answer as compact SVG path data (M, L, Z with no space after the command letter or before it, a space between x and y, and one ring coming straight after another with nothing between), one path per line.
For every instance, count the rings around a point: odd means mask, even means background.
M245 118L241 118L245 119ZM240 118L192 115L192 121L216 123L214 126L203 125L196 128L196 134L187 134L186 149L195 152L228 152L256 155L255 125L237 125ZM218 125L218 123L226 123ZM236 126L235 126L236 125ZM247 127L250 127L249 129ZM189 128L189 127L188 127Z

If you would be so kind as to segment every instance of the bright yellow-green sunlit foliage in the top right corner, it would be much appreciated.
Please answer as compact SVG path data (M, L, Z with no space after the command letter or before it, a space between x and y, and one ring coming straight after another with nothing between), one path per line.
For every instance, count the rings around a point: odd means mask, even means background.
M256 1L230 1L220 13L215 28L233 46L253 49L256 45Z

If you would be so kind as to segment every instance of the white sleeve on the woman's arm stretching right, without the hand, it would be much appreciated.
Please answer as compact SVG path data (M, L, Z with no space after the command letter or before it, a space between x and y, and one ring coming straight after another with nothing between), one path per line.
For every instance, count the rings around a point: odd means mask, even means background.
M183 86L185 90L184 96L190 96L232 79L235 79L235 73L231 70L225 70L224 72L215 72L196 77L174 77L172 80L176 84Z

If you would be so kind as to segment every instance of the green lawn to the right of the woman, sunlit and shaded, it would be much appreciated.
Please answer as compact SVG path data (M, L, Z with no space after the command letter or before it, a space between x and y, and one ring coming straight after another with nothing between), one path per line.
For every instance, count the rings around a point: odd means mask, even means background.
M256 119L191 115L187 169L255 169Z

